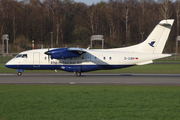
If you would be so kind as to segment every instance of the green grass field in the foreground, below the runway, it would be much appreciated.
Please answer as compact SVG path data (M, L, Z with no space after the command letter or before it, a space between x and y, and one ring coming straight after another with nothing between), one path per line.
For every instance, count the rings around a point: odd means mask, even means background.
M3 120L178 120L179 86L0 85Z

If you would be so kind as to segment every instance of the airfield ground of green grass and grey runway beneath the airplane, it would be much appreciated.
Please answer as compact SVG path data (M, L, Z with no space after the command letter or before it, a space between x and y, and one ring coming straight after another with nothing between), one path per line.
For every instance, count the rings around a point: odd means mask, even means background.
M4 64L0 63L3 120L180 119L178 61L82 77L61 71L25 71L19 77Z

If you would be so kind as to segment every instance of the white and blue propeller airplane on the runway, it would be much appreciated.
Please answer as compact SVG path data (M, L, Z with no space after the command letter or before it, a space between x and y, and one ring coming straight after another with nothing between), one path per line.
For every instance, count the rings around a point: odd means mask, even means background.
M115 49L51 48L21 52L6 63L6 67L23 70L64 70L81 76L82 72L120 69L153 63L171 56L162 54L173 19L160 21L148 38L137 45Z

